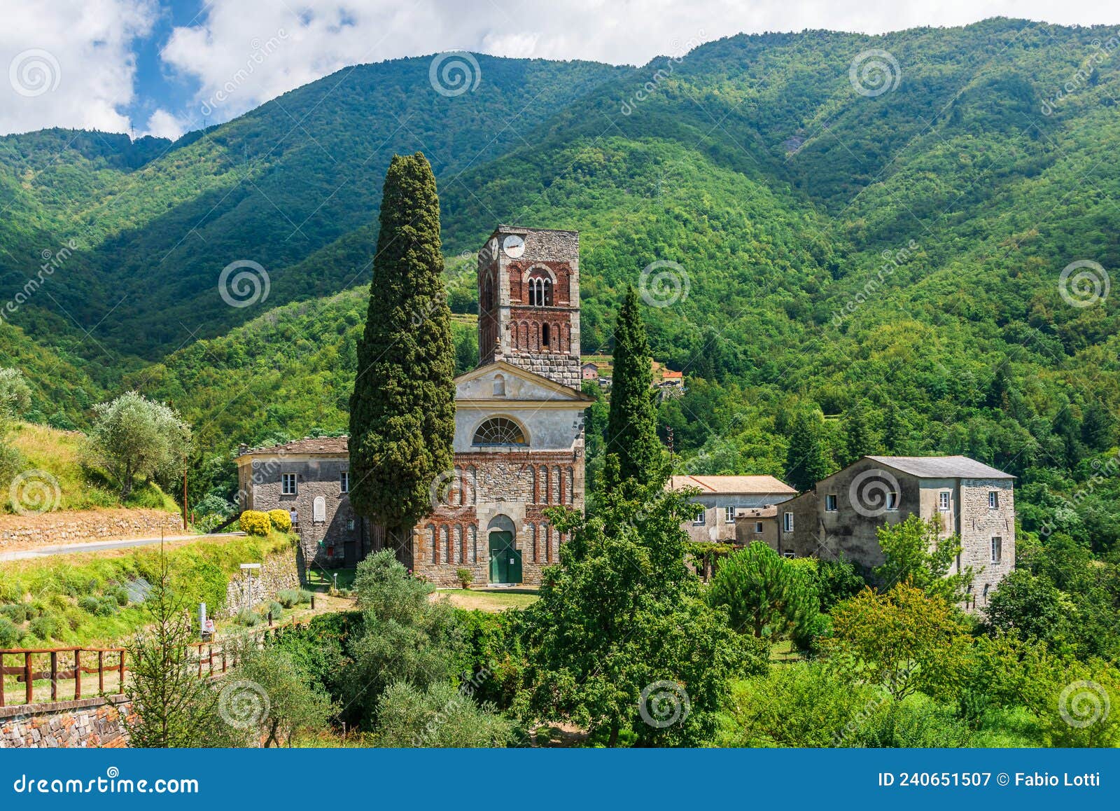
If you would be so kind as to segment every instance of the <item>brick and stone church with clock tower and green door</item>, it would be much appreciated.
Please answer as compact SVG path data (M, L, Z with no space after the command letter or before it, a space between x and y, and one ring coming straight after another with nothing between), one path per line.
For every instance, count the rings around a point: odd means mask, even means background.
M398 550L440 586L541 581L559 561L544 510L584 510L579 234L498 229L478 255L480 363L455 380L455 467Z

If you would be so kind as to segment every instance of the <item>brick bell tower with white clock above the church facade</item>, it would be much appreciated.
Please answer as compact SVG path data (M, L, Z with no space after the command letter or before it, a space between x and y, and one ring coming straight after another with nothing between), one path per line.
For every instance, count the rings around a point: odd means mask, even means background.
M578 232L491 234L478 254L478 357L580 390Z

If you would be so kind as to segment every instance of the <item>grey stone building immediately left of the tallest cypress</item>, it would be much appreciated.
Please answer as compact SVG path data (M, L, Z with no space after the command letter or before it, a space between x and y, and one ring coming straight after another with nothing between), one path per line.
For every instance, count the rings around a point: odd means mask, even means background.
M269 448L243 445L236 462L239 506L295 510L306 565L356 566L368 552L370 532L349 504L346 437L297 439Z

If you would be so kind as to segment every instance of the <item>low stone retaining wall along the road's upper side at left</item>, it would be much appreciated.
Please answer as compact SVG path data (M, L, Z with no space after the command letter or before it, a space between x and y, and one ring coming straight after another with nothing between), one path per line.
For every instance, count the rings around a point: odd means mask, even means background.
M162 510L65 510L0 515L0 549L34 549L123 538L184 534L183 518Z

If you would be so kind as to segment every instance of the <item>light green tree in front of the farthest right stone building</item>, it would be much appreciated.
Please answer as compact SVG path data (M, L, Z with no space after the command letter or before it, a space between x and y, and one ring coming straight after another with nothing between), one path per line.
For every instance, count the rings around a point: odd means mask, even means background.
M923 521L907 515L897 524L884 524L876 530L883 549L883 565L875 568L875 579L886 590L898 582L909 582L931 596L959 603L972 582L972 567L950 575L961 539L942 537L936 519Z

